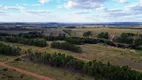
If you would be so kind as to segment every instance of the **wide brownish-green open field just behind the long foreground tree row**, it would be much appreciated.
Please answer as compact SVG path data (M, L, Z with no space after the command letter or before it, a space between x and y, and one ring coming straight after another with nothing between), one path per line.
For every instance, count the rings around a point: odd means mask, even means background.
M51 42L52 41L50 41L49 44ZM138 50L116 48L103 44L85 44L79 45L83 50L82 53L75 53L67 50L50 48L50 45L45 48L27 46L22 44L15 45L21 47L23 50L32 49L33 51L40 52L62 53L66 55L72 55L83 60L97 60L104 63L107 63L109 61L114 65L129 65L134 69L142 70L142 51Z

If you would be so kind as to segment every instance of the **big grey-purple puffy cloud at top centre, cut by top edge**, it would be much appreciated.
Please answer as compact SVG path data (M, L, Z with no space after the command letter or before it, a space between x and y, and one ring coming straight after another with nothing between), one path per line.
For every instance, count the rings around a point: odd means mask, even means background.
M107 0L68 0L65 8L93 9L101 7Z

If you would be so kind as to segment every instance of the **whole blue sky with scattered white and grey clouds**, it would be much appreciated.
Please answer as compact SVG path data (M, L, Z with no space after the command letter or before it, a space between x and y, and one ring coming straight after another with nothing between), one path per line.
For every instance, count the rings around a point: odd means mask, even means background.
M142 0L0 0L0 22L142 22Z

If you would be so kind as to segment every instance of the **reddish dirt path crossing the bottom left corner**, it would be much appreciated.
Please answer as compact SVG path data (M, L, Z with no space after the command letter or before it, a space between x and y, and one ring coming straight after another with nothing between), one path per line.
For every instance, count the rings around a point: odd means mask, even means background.
M4 64L2 62L0 62L0 66L6 67L6 68L11 69L11 70L15 70L15 71L27 74L27 75L34 76L34 77L36 77L36 78L38 78L40 80L54 80L54 79L49 78L49 77L45 77L45 76L42 76L42 75L39 75L39 74L36 74L36 73L32 73L32 72L29 72L29 71L26 71L26 70L22 70L22 69L13 67L13 66L6 65L6 64Z

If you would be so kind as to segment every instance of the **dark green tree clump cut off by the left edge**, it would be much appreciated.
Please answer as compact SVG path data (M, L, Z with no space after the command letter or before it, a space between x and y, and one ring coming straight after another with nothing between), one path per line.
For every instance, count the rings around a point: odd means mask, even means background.
M19 47L6 45L0 42L0 54L15 56L20 54L20 50Z

